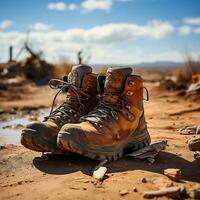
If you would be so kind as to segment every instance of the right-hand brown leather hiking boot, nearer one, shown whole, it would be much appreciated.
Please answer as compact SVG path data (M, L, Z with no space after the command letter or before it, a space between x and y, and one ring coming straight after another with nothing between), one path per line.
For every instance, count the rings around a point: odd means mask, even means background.
M117 160L150 144L144 117L143 80L131 68L109 68L97 107L78 124L64 125L57 139L66 151Z

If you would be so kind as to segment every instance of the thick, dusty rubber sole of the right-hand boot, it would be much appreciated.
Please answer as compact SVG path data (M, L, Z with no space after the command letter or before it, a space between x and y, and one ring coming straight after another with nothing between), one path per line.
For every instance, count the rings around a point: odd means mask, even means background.
M73 134L68 132L59 132L57 138L57 145L63 150L70 150L74 153L79 153L88 158L95 160L105 160L114 161L121 158L126 149L131 149L132 151L137 151L150 145L151 139L147 131L147 128L140 130L137 134L131 135L127 141L119 143L117 145L91 145L80 143L76 141Z

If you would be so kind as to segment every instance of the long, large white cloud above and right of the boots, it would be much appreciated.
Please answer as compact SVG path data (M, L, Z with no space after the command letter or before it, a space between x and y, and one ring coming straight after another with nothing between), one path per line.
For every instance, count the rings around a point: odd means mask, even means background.
M151 21L146 25L107 24L86 31L87 38L96 43L123 42L142 37L162 39L174 31L169 22Z

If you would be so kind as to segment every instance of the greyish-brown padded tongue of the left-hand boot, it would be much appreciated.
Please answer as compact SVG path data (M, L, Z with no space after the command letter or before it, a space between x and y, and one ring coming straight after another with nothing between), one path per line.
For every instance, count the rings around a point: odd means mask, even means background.
M75 65L68 74L68 82L78 88L82 86L82 80L86 74L92 73L92 68L87 65Z

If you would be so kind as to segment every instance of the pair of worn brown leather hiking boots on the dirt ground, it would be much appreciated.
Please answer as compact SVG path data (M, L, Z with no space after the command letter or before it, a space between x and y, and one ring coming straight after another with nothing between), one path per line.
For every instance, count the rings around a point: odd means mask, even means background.
M66 101L22 131L25 147L112 161L150 144L143 80L131 68L109 68L103 76L77 65L64 81L52 79L50 87L66 92Z

